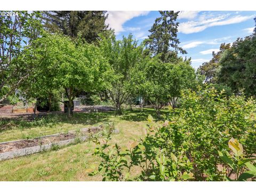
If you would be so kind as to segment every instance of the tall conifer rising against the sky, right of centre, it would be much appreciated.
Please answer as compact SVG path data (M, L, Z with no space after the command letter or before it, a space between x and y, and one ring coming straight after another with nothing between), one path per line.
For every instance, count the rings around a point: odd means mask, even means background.
M151 27L148 39L145 43L148 49L154 54L161 54L163 62L172 62L177 58L177 53L187 53L179 47L177 17L179 12L159 11L161 17L156 18L154 25ZM173 48L174 50L171 50Z

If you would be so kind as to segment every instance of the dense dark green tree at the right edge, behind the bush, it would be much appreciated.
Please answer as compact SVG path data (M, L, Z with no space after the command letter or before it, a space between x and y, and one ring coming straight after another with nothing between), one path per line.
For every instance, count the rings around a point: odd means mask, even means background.
M256 94L256 36L238 38L220 59L218 83L234 93Z

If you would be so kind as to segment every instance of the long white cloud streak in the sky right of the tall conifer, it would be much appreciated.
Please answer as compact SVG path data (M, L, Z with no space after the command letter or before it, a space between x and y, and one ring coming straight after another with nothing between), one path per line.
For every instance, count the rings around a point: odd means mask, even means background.
M184 34L198 33L200 31L205 30L208 27L230 25L230 24L246 21L253 17L254 15L250 15L250 16L236 15L235 17L230 18L229 15L226 14L226 15L219 15L215 18L209 18L209 16L206 17L205 15L201 15L201 17L199 17L197 21L187 21L187 22L180 23L179 32Z

